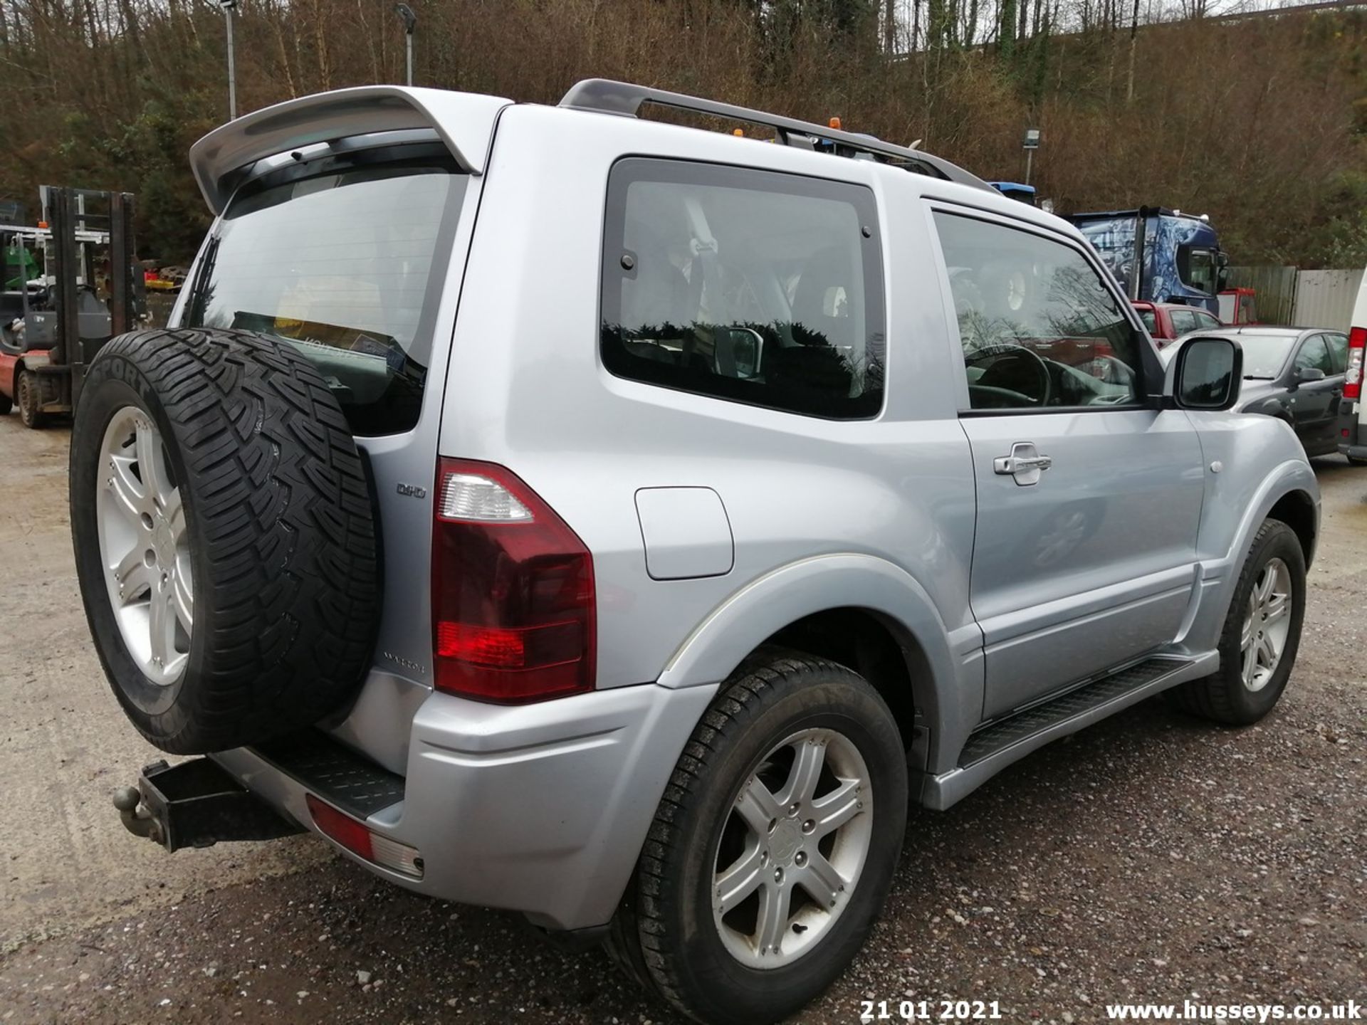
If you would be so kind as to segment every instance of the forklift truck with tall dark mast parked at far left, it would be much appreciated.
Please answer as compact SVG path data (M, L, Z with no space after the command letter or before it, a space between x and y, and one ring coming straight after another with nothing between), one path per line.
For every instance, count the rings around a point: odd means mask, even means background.
M30 428L71 413L100 346L146 312L133 195L56 186L38 191L37 227L0 226L0 414L18 406ZM38 275L30 276L34 269Z

